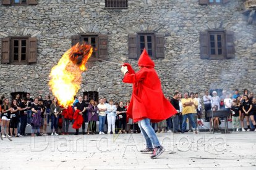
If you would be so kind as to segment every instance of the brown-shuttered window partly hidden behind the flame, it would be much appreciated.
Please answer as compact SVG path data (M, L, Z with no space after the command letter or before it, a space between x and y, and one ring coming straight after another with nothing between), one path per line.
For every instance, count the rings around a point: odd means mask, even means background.
M77 42L86 42L91 44L96 51L93 51L93 57L106 60L108 57L108 36L103 34L79 34L72 36L72 46Z

